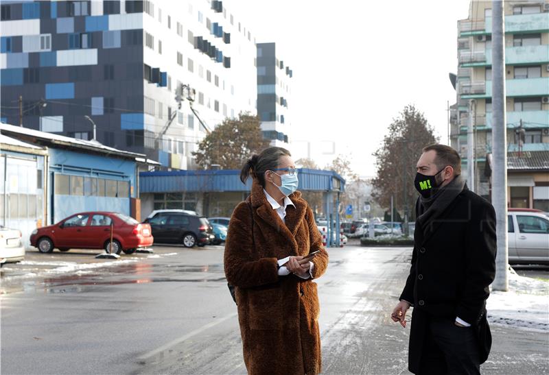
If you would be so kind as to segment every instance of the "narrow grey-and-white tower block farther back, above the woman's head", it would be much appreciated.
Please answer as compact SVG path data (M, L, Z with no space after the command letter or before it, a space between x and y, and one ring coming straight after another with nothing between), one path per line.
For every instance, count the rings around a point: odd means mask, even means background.
M264 138L272 146L288 148L293 71L279 55L276 43L257 44L257 113Z

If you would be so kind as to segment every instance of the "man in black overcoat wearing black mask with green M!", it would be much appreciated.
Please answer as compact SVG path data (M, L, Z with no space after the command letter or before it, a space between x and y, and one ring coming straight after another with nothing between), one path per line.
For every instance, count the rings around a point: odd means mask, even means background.
M391 314L406 327L414 306L414 374L480 374L491 348L486 300L495 276L495 212L467 189L460 165L446 145L425 147L417 162L412 267Z

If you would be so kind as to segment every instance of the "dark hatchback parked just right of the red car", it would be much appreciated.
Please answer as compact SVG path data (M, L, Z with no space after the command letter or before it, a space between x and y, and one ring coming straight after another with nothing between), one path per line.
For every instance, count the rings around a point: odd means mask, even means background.
M208 245L215 239L208 219L180 212L160 212L143 221L150 224L156 243L181 243L185 247Z

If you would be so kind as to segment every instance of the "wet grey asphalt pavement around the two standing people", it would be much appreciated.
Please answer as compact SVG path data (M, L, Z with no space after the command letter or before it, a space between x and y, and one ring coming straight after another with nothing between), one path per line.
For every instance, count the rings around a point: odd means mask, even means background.
M222 246L27 253L1 274L3 374L245 374ZM408 329L389 319L411 249L329 250L319 278L325 374L408 374ZM549 372L546 333L493 326L484 374Z

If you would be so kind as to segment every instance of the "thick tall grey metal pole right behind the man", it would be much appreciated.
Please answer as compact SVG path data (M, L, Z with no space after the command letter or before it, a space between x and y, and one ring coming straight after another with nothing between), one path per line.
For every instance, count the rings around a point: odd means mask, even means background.
M492 204L498 252L492 289L508 291L507 277L507 133L505 116L504 2L492 0Z

